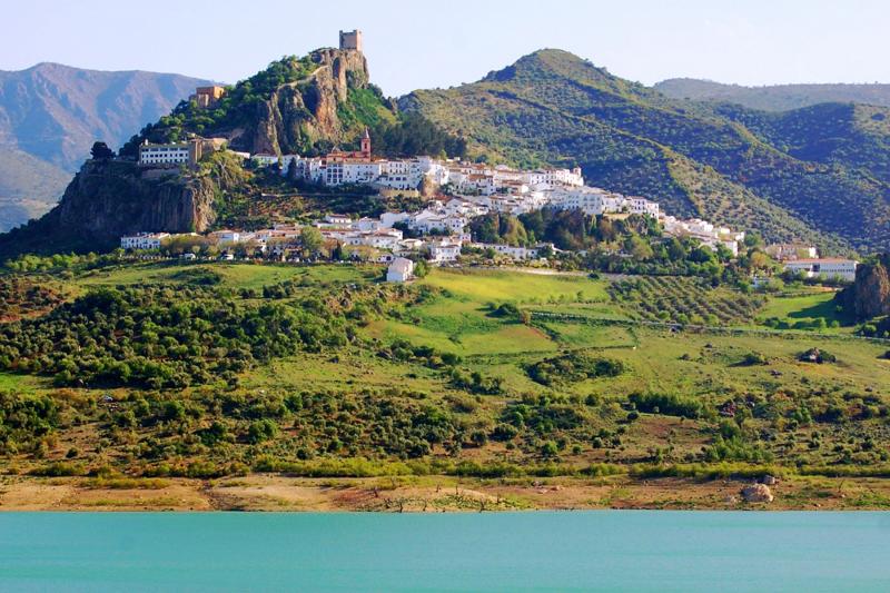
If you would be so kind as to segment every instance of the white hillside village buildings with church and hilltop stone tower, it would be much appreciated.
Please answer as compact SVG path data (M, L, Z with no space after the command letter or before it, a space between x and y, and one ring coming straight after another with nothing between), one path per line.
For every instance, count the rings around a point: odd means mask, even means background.
M360 31L340 31L342 51L362 51ZM211 109L226 93L222 87L199 87L190 97L200 109ZM165 175L179 167L197 167L207 155L228 150L225 138L194 136L184 142L150 144L139 147L138 165L149 175ZM744 231L714 225L700 218L681 219L672 216L654 200L589 187L580 168L543 168L520 170L505 165L488 165L462 159L414 156L387 159L375 157L372 138L366 128L358 150L334 148L323 156L296 154L249 154L230 151L251 167L276 169L294 182L326 188L367 187L382 196L429 198L426 207L416 211L388 211L378 218L353 219L330 214L313 220L322 237L332 244L346 246L358 260L392 263L396 258L424 258L433 264L452 264L466 249L491 249L514 260L543 258L555 250L552 244L515 246L481 243L469 233L471 220L490 213L518 216L552 208L580 210L587 216L622 219L631 215L657 220L665 237L689 237L716 251L728 250L738 257ZM222 229L201 237L224 250L224 259L235 258L235 247L241 253L261 254L278 260L295 260L295 248L306 225L279 224L259 230ZM170 241L187 241L191 235L170 235L162 229L120 238L120 247L132 250L160 249ZM801 257L800 249L775 246L773 257L785 268L808 277L823 276L852 280L857 261L840 258L819 258L815 248ZM186 257L194 257L185 254Z

